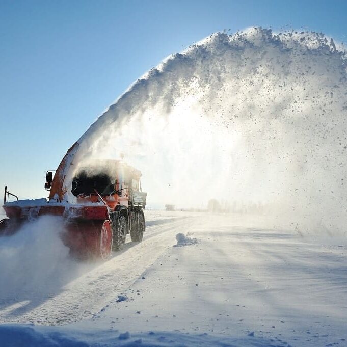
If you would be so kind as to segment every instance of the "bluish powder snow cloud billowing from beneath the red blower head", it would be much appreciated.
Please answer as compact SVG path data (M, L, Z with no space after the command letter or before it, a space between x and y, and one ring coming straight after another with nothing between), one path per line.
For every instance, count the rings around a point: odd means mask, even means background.
M28 293L44 298L59 292L76 275L78 264L63 245L63 230L61 218L43 216L24 223L10 237L0 237L2 300L18 299Z

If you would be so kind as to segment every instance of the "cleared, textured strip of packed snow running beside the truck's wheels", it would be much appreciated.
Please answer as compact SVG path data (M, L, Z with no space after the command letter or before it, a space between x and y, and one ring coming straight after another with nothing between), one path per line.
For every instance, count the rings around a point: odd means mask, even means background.
M41 298L33 309L28 309L30 299L14 299L0 310L0 323L64 325L90 317L134 283L167 247L175 244L175 235L193 222L194 218L188 217L148 226L142 243L131 242L127 236L121 252L114 252L109 261L90 264L90 271L65 285L58 295L48 296L43 302Z

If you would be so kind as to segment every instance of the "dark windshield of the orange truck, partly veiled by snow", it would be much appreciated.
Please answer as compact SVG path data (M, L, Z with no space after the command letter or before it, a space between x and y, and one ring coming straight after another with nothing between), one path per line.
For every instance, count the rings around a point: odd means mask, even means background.
M95 194L95 190L100 195L110 195L116 192L114 183L115 181L106 173L82 170L73 178L71 191L74 196Z

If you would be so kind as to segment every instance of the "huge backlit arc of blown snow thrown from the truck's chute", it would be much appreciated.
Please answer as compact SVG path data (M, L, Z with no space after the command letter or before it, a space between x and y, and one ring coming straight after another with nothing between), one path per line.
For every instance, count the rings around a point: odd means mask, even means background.
M82 137L120 158L149 201L250 203L301 231L344 232L346 55L323 34L213 34L150 70Z

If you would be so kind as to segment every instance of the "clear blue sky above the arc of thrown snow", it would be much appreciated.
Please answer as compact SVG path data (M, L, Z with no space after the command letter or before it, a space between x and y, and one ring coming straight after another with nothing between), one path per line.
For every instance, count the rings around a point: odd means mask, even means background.
M45 170L171 53L249 26L347 41L345 1L0 0L0 189L42 197Z

